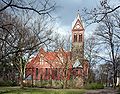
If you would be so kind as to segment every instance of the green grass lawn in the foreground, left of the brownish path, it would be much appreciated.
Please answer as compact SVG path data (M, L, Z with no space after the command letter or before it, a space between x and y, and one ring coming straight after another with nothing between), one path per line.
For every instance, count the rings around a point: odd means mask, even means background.
M0 87L0 94L84 94L84 89L45 89L45 88L25 88Z

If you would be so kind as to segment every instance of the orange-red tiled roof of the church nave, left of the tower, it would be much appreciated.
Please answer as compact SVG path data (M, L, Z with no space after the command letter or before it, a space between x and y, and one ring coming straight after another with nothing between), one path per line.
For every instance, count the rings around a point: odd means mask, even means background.
M32 68L32 67L44 67L45 68L45 67L50 67L50 65L54 67L60 67L62 66L60 62L60 57L69 58L70 52L66 52L63 49L58 50L56 52L45 52L43 48L40 48L36 57L32 58L32 60L28 62L27 68ZM40 58L43 59L42 64L40 64ZM46 62L48 64L46 64Z

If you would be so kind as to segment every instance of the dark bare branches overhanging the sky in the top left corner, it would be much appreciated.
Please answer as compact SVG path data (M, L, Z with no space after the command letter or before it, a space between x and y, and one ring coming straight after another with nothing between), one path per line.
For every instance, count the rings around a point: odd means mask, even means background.
M55 9L55 2L49 0L41 1L24 1L24 0L1 0L0 12L11 9L14 13L20 10L34 11L35 13L42 15L48 14Z

